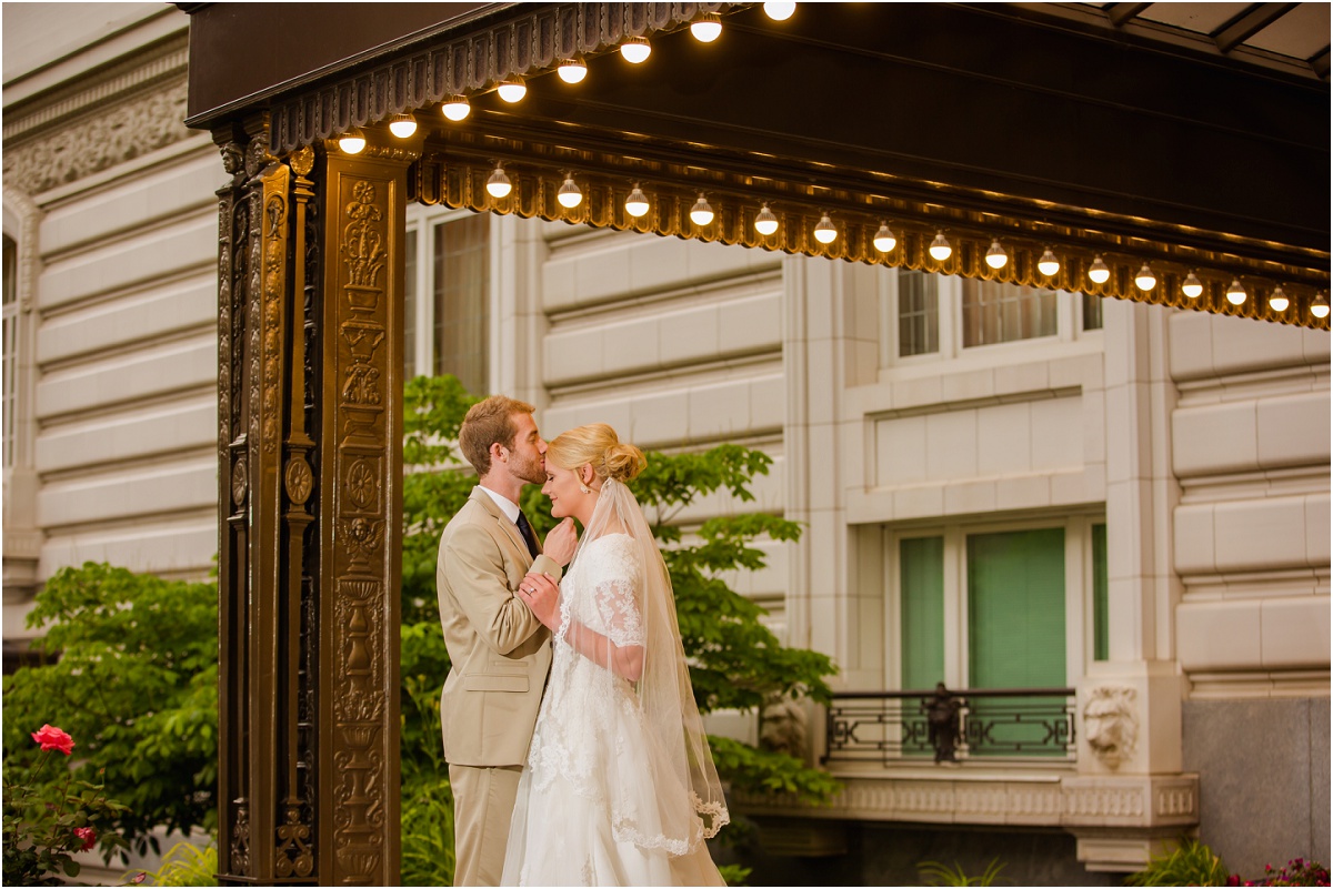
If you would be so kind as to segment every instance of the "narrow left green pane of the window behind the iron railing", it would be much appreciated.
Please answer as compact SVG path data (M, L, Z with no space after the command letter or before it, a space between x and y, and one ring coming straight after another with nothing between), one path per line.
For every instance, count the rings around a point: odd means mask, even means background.
M944 538L898 544L902 588L902 688L944 681Z

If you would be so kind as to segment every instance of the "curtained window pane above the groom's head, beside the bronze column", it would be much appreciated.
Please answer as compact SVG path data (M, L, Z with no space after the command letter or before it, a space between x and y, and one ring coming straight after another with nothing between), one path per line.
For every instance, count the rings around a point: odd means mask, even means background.
M487 293L491 217L435 228L435 373L487 394Z

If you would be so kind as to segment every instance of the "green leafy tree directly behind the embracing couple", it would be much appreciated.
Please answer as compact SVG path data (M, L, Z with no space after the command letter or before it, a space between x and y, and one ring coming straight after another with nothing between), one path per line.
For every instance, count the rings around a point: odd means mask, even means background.
M428 805L431 795L437 797L436 789L448 780L439 756L440 688L448 672L448 653L440 631L435 566L440 531L476 483L455 452L459 426L476 401L452 377L419 377L404 390L404 463L417 470L408 474L403 488L403 858L404 882L409 885L452 878L452 869L409 874L409 858L440 856L437 837L423 838L425 845L416 850L417 840L408 829L408 806L409 800ZM682 510L717 491L753 502L750 482L765 475L770 462L762 451L737 444L701 452L651 452L648 468L633 483L635 495L664 547L681 641L690 659L690 680L704 712L728 708L754 712L784 697L828 700L829 696L825 677L836 671L832 661L813 651L782 645L764 625L764 610L724 580L728 572L764 567L757 542L796 540L800 527L777 515L745 512L709 519L686 538L674 523ZM536 486L524 488L521 506L540 534L555 524ZM808 802L825 801L837 789L825 772L808 768L786 753L725 737L709 741L718 773L734 788L781 791ZM412 818L421 813L415 808ZM427 848L432 854L425 853Z

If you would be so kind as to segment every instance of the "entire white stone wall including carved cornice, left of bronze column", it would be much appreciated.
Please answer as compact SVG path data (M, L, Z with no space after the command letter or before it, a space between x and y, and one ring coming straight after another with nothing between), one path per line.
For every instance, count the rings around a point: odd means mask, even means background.
M4 17L4 221L23 301L8 641L29 635L35 587L64 566L203 578L213 564L225 173L183 122L184 13L7 4Z

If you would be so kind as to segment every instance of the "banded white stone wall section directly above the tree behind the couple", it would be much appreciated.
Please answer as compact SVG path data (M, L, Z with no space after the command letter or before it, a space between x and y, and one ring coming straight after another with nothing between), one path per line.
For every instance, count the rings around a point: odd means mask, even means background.
M773 458L754 500L704 498L673 520L686 528L736 510L785 511L784 258L718 244L591 230L540 229L531 299L543 334L539 402L548 438L605 422L644 450L722 442ZM507 226L508 228L508 226ZM789 260L788 260L789 261ZM773 611L781 629L789 547L758 544L760 572L729 578Z

